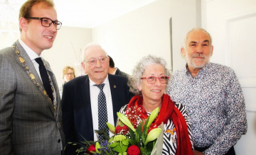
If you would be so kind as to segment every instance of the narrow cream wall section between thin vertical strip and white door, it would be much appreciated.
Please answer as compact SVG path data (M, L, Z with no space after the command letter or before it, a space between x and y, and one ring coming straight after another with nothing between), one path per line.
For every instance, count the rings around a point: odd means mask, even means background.
M181 42L189 30L201 27L201 1L171 0L173 33L173 70L181 69L186 64L181 56Z

